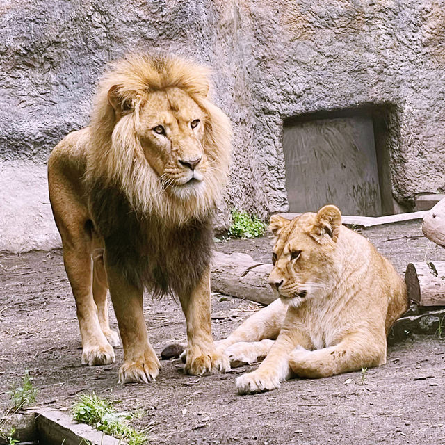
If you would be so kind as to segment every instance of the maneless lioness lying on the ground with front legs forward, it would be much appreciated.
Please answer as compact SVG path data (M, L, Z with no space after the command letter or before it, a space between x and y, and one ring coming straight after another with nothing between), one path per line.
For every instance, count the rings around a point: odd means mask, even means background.
M277 300L216 342L232 366L266 357L236 379L238 392L385 364L389 327L408 307L394 266L341 225L333 205L292 221L272 216L270 229L275 246L268 282Z

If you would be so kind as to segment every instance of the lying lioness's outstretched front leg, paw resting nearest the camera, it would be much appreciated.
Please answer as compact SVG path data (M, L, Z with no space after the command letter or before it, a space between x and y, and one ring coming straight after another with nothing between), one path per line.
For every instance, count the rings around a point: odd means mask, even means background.
M296 309L289 307L282 330L264 362L261 362L257 370L236 379L238 393L270 391L280 387L280 382L293 375L289 366L289 353L298 345L310 348L312 341L305 333L304 325L298 321Z

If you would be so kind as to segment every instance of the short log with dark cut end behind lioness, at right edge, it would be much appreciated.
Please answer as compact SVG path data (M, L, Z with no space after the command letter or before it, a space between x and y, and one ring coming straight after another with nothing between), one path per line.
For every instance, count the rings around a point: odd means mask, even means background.
M445 261L408 264L405 282L408 297L419 305L445 305Z

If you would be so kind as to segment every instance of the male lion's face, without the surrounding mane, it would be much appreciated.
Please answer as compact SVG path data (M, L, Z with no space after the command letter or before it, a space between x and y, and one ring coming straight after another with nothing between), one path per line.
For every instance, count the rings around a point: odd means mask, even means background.
M163 188L179 197L206 186L206 115L179 88L152 92L140 106L136 134Z

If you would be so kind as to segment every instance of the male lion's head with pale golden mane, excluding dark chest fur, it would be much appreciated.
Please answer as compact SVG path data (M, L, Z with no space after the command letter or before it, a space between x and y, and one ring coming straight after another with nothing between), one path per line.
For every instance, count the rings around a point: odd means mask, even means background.
M226 184L232 131L209 98L209 70L136 54L102 79L91 119L88 182L118 187L140 218L208 220Z

